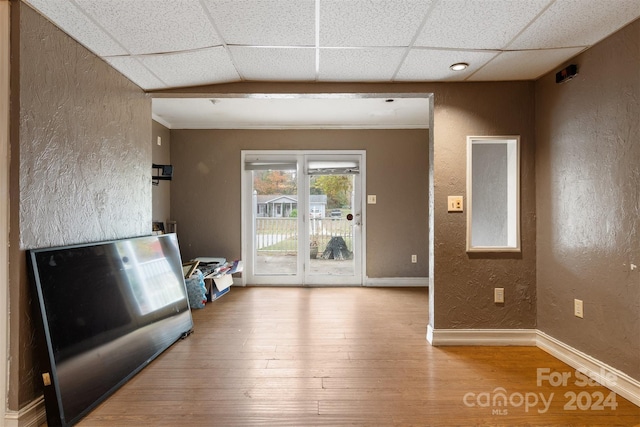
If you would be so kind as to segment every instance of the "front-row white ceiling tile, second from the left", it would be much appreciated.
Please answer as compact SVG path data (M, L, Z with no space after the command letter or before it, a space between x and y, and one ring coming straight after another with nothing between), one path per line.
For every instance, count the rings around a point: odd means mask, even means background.
M222 44L200 3L174 0L76 0L134 55Z

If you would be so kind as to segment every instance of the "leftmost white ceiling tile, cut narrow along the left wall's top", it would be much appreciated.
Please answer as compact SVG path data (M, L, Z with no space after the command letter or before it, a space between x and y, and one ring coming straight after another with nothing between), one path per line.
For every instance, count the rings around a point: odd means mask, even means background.
M124 55L124 47L109 37L69 0L29 0L28 3L96 55Z

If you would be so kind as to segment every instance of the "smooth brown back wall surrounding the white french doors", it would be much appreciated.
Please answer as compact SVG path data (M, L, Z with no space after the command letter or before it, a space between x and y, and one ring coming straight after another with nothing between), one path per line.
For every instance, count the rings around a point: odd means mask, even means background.
M171 138L183 258L240 257L241 150L366 150L367 192L378 197L367 207L366 273L427 276L427 130L173 130Z

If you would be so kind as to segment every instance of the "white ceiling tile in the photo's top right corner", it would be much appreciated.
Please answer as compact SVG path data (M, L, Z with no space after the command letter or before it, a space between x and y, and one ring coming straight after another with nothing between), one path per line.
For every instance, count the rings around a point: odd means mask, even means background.
M509 49L593 45L639 16L638 0L556 0Z

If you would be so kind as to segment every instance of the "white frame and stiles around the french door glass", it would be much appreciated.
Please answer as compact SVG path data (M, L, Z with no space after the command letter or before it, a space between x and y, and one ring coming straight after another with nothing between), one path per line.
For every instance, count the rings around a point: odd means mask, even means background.
M306 207L308 206L307 194L308 194L308 179L306 176L306 157L307 156L324 155L327 157L335 157L336 155L350 155L360 156L360 194L366 194L366 151L365 150L242 150L241 161L241 256L242 259L247 260L245 264L245 273L242 275L242 286L250 284L273 284L269 280L269 276L253 276L251 271L253 266L250 265L253 259L253 230L249 228L248 224L253 217L253 203L252 203L252 182L248 179L249 174L245 169L245 162L247 159L255 159L256 157L267 158L273 162L290 162L295 159L297 164L298 173L298 211L304 212L302 215L298 215L298 229L306 230ZM361 237L359 244L359 251L355 251L356 256L359 257L354 264L355 268L359 267L359 271L356 273L357 283L349 284L351 286L363 286L365 271L366 271L366 204L364 203L364 197L360 197L360 206L357 211L361 214ZM304 208L304 209L303 209ZM354 207L355 208L355 207ZM354 209L355 210L355 209ZM301 233L305 235L304 239L299 239L299 249L297 257L297 274L290 276L278 276L278 286L300 286L305 285L306 275L303 270L304 263L308 258L309 236L308 233ZM314 286L317 282L313 283ZM331 283L329 283L331 284ZM337 284L337 283L336 283ZM345 285L345 286L349 286Z

